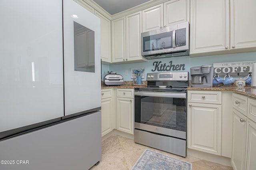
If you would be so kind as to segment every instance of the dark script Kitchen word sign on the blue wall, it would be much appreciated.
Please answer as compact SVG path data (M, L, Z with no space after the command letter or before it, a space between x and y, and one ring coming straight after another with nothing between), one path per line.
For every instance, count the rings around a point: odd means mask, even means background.
M155 61L153 66L155 66L155 68L151 71L181 71L185 69L185 64L174 65L172 61L164 64L162 64L162 61Z

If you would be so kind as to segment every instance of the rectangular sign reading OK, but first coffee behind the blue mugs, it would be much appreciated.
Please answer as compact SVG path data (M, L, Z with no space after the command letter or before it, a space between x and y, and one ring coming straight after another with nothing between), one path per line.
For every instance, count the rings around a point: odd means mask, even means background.
M221 77L227 74L232 77L246 76L252 73L253 63L256 63L256 61L213 63L214 75L218 74Z

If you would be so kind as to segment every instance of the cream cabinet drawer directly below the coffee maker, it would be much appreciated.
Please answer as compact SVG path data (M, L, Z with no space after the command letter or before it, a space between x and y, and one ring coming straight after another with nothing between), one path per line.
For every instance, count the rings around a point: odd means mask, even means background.
M221 91L188 91L188 102L221 104Z

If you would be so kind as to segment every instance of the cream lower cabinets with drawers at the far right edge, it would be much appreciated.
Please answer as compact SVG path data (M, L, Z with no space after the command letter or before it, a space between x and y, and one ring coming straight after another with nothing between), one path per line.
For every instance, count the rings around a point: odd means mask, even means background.
M256 100L233 93L231 164L234 170L256 169Z

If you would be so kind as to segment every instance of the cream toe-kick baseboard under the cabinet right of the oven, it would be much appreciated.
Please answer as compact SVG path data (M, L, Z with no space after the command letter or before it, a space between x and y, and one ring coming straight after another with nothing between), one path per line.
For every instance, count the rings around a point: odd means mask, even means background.
M228 157L209 154L209 153L201 152L201 151L194 150L194 149L187 148L187 156L193 156L193 157L196 157L199 159L208 160L208 161L215 162L218 164L232 166L231 159Z

